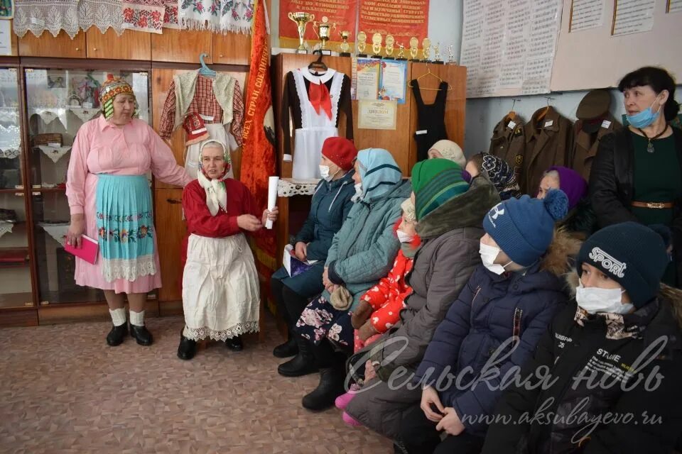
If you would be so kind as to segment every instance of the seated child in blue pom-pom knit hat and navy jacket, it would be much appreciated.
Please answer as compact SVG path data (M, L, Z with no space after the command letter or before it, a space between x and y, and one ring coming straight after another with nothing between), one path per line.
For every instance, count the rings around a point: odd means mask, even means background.
M482 265L450 306L413 380L423 391L421 404L402 415L400 441L408 453L480 451L500 380L531 357L568 300L562 276L580 243L554 231L567 206L565 194L553 189L544 200L503 201L485 216ZM489 360L494 365L486 366ZM492 380L471 385L495 368ZM448 434L443 441L441 432Z

